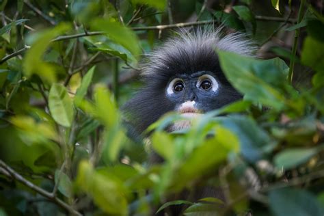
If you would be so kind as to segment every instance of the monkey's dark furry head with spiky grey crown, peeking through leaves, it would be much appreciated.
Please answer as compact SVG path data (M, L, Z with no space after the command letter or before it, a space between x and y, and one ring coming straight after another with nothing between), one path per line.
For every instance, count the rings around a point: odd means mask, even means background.
M254 48L239 33L221 37L219 31L180 33L147 55L141 71L144 87L124 106L137 133L168 111L195 117L242 97L221 71L216 51L252 55ZM170 131L187 126L182 121Z

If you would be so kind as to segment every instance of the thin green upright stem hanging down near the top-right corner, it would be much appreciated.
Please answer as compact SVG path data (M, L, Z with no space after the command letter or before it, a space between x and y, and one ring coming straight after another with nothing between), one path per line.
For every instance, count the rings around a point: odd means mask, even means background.
M305 6L305 0L301 0L300 6L299 6L297 23L300 23L301 22L301 19L303 18L303 10L305 8L304 6ZM288 81L290 83L293 83L293 72L294 72L294 66L295 66L295 55L296 55L296 51L297 51L299 33L300 33L300 28L296 29L296 31L295 31L293 51L291 51L291 63L289 64L289 72L288 72Z

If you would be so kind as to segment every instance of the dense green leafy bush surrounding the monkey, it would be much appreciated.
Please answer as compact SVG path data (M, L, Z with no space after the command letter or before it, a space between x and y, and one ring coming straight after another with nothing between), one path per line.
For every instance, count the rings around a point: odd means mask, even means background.
M0 8L0 215L324 214L323 1ZM213 24L247 32L267 59L218 53L243 100L183 133L163 130L170 113L150 126L150 146L129 139L118 107L141 85L141 54L170 29ZM150 149L165 161L150 165ZM198 185L224 200L170 200Z

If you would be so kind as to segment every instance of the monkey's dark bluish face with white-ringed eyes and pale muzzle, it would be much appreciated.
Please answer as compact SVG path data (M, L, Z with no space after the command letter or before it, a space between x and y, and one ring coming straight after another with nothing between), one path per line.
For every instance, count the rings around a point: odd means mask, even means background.
M165 90L174 111L195 117L241 98L228 83L213 72L199 71L172 77Z

